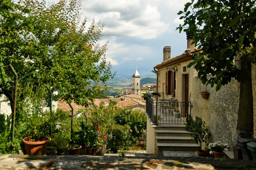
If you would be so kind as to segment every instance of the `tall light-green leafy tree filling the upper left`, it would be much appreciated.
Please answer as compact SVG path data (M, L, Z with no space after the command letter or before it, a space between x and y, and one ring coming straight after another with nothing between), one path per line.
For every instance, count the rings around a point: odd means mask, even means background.
M40 83L59 91L56 99L87 104L113 78L105 45L97 44L104 24L81 22L80 0L0 0L0 94L11 102L12 64L19 83ZM92 85L93 83L93 85ZM24 83L25 84L25 83Z

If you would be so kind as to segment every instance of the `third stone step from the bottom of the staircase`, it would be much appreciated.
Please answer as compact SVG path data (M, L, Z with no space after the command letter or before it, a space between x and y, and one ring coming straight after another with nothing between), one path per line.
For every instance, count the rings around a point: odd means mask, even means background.
M156 136L158 143L196 143L191 136Z

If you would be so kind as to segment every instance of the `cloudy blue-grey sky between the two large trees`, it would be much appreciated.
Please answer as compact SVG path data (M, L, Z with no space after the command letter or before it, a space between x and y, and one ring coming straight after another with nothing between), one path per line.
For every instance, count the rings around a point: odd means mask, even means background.
M109 41L106 58L116 77L154 74L163 61L163 47L171 46L171 57L186 50L186 34L176 27L182 23L177 12L189 0L82 0L82 16L105 24L99 43Z

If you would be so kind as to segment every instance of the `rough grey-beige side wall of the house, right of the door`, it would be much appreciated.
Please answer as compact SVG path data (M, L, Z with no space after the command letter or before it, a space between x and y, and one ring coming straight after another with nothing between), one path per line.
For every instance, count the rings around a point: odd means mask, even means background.
M209 126L212 136L208 142L221 141L236 145L239 132L236 130L239 110L239 82L232 79L231 83L223 86L219 91L215 87L207 86L209 99L203 99L198 86L201 81L193 78L192 90L192 117L200 117Z

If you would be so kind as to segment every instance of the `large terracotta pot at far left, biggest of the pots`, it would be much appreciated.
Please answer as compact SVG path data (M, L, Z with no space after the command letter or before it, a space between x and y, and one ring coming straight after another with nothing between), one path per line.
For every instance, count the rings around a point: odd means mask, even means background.
M44 155L47 147L47 143L49 142L49 137L47 136L40 136L40 139L45 138L44 141L39 142L29 142L29 138L32 138L32 136L26 137L23 139L24 147L25 147L25 153L27 155Z

